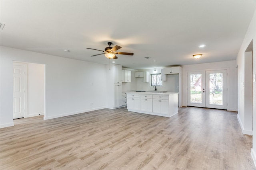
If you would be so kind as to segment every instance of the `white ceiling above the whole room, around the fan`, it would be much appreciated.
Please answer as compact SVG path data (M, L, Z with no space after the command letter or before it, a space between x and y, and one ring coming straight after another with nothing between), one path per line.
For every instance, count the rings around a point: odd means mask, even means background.
M255 9L255 0L1 0L0 44L108 64L86 48L104 50L110 41L134 53L115 60L133 69L229 61Z

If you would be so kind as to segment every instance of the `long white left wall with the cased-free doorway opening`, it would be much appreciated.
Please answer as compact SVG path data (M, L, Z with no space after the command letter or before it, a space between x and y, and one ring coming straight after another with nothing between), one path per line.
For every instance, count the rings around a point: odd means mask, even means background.
M0 127L13 125L12 61L45 64L44 119L106 108L105 65L0 48Z

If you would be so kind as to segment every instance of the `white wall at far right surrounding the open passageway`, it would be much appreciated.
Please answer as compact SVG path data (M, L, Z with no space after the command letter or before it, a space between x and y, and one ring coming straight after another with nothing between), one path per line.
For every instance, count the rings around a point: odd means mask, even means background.
M246 35L244 37L244 41L240 47L240 50L238 52L237 58L236 58L236 62L238 65L238 119L239 117L246 117L246 113L243 112L243 107L244 104L246 103L245 98L243 98L242 96L244 96L244 87L243 87L243 81L245 80L245 52L247 47L250 45L251 41L253 40L253 46L252 46L252 51L254 51L252 57L252 74L256 74L256 11L254 12L254 16L252 18L252 21L248 27L248 30L246 32ZM251 77L252 78L252 77ZM252 117L252 129L256 129L256 82L252 83L252 113L253 113L253 117ZM247 122L244 122L244 125ZM240 122L241 124L241 122ZM243 129L244 125L241 125L241 129L242 131L246 130ZM252 135L254 136L252 138L252 158L254 160L254 164L256 163L256 131L252 131Z

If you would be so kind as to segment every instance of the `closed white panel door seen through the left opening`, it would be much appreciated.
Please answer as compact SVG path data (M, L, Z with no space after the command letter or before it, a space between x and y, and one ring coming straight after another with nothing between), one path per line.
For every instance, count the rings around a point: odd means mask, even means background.
M13 65L13 118L24 117L24 66Z

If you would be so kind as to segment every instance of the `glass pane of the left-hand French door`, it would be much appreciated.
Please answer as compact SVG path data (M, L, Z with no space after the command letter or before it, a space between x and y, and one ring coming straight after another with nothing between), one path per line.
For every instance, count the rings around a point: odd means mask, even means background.
M202 104L202 74L190 74L190 103Z

